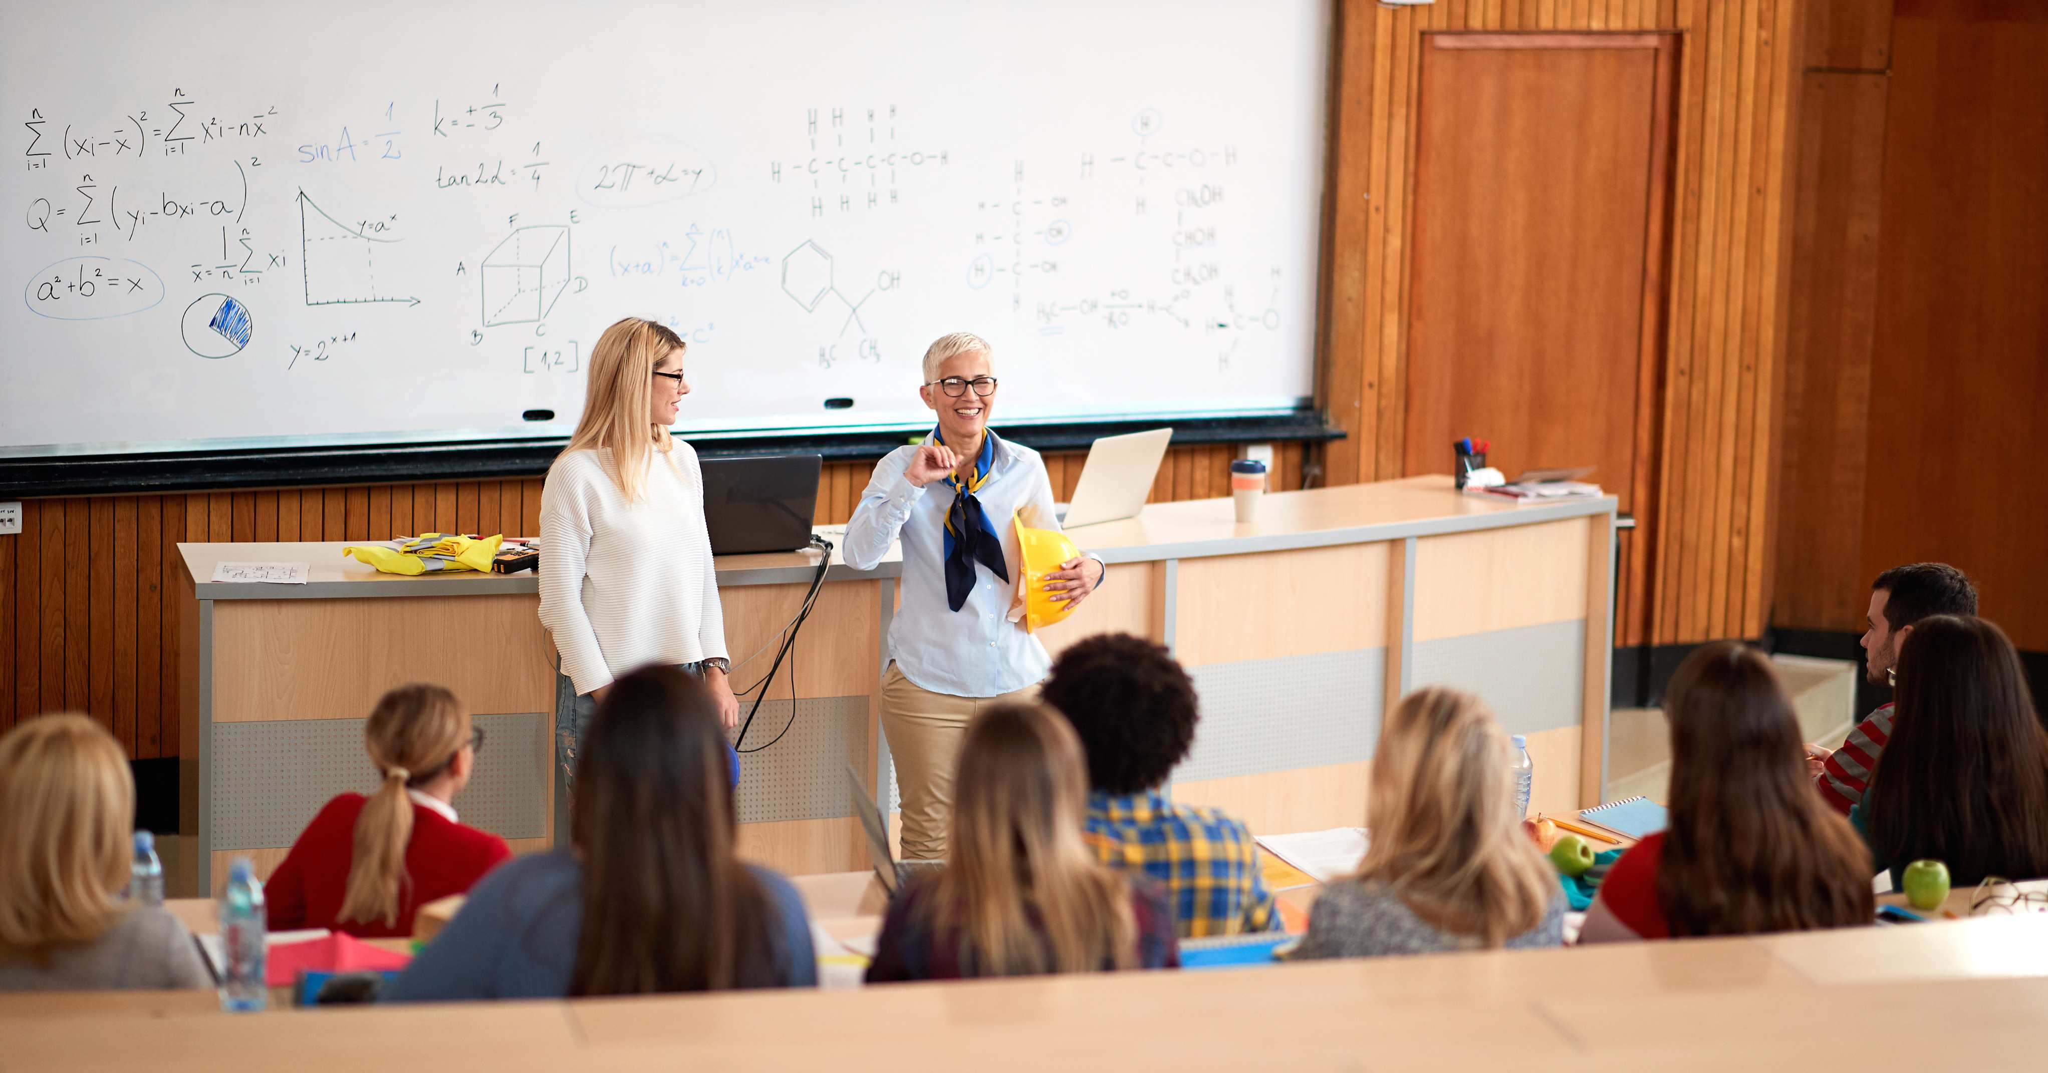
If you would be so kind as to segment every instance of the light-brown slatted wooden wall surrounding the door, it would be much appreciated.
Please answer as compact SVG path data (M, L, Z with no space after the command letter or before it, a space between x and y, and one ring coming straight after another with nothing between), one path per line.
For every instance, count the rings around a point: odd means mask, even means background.
M1790 301L1788 156L1806 4L1659 0L1518 4L1343 0L1331 119L1329 270L1321 403L1348 440L1331 483L1403 471L1407 287L1415 203L1419 41L1425 31L1669 31L1679 35L1671 250L1665 258L1657 532L1624 536L1616 643L1763 631L1778 383ZM1843 31L1847 33L1847 31ZM1479 195L1475 195L1479 197ZM1493 190L1487 197L1513 197ZM1640 577L1640 582L1638 582Z

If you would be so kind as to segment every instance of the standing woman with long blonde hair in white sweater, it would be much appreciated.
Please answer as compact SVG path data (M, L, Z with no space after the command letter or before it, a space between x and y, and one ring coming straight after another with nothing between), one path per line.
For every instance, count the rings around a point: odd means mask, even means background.
M584 416L541 489L541 625L555 639L557 842L569 831L580 727L614 678L645 666L705 680L739 725L725 680L725 610L705 528L696 450L670 426L690 393L682 336L625 317L590 348ZM727 756L733 780L739 758Z

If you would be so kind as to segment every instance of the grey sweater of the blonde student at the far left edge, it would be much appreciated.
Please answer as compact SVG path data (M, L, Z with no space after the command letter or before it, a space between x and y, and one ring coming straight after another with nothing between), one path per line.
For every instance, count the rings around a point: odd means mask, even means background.
M193 932L160 905L137 905L104 936L49 952L49 964L0 954L0 991L162 991L213 987Z

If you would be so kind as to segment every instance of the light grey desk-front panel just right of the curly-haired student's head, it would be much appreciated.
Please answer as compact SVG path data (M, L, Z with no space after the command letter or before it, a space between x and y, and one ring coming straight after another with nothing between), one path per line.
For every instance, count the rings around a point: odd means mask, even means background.
M1174 782L1368 760L1380 735L1386 649L1190 668L1202 698Z

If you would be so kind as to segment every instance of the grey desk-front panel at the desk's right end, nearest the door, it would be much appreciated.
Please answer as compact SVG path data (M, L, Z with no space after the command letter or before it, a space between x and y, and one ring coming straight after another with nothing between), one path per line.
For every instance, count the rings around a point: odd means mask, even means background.
M1479 694L1507 733L1577 727L1585 618L1419 641L1415 686Z

